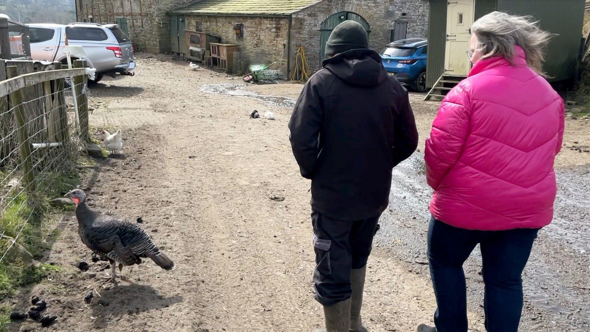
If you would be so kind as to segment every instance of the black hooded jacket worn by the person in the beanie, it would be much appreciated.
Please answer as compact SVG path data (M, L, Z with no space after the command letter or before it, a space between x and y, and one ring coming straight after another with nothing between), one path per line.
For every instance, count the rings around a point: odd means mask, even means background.
M340 220L378 216L392 169L418 145L408 92L372 50L323 61L289 122L293 154L312 179L312 208Z

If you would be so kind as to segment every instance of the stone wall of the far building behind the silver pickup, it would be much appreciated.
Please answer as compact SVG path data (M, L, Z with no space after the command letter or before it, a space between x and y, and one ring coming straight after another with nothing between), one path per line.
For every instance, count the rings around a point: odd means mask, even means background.
M78 22L116 23L126 18L129 37L136 51L166 53L170 51L166 12L191 0L76 0Z

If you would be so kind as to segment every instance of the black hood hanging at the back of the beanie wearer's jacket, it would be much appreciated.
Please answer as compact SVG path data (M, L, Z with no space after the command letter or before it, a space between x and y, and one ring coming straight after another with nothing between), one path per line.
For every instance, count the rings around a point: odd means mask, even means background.
M373 50L350 50L323 61L325 69L353 86L378 86L387 78L381 56Z

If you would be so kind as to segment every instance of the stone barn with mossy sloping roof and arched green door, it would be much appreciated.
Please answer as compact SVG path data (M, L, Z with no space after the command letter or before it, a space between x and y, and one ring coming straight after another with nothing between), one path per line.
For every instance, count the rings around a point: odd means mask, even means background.
M280 64L290 76L301 46L309 69L320 66L330 32L346 19L365 27L376 51L394 40L427 37L428 6L428 0L199 0L168 12L170 44L183 54L184 30L202 31L238 45L242 70L277 61L274 68Z

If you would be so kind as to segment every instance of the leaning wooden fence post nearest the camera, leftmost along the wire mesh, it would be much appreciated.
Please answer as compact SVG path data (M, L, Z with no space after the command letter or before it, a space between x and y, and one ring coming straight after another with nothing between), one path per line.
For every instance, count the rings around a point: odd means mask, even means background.
M6 74L9 79L18 76L17 66L6 67ZM31 157L31 143L29 142L29 133L27 131L27 115L22 105L22 89L10 94L10 105L14 112L14 119L17 122L18 131L18 149L21 153L22 169L25 174L25 189L30 193L35 191L35 176L33 174L33 161Z

